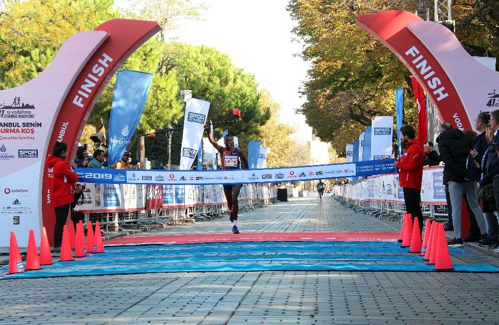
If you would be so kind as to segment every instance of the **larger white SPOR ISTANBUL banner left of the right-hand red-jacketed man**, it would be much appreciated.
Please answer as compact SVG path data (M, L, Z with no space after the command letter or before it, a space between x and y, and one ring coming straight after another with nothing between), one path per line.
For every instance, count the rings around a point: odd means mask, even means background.
M376 116L372 122L371 160L392 157L393 116Z

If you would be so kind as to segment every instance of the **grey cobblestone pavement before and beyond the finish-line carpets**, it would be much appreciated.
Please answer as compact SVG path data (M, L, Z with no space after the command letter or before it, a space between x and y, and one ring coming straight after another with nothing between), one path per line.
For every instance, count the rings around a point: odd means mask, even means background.
M225 217L140 235L222 233L230 226ZM245 212L238 226L242 232L400 229L398 222L355 213L332 198L294 198ZM497 257L476 253L452 260L499 265ZM452 272L17 279L0 281L0 324L499 324L498 293L498 274Z

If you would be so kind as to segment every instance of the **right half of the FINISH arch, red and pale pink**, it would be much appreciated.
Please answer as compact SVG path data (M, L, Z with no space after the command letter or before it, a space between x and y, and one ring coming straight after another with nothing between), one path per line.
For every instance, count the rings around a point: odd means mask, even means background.
M480 112L499 109L499 73L469 55L447 27L404 10L360 15L357 25L412 72L441 121L472 130Z

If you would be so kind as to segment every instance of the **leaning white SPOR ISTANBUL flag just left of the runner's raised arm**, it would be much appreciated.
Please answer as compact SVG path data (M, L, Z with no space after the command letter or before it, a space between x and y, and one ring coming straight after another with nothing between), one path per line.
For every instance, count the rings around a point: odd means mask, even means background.
M184 133L180 150L180 170L189 169L194 162L199 144L203 139L209 109L210 102L196 98L191 98L186 104Z

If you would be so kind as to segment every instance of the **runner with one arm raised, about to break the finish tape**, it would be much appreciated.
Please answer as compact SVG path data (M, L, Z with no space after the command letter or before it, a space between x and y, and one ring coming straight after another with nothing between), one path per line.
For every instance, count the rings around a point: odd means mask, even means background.
M248 161L245 155L238 149L234 147L234 137L231 135L226 135L224 137L225 148L220 146L212 137L210 132L210 125L205 125L205 131L208 133L208 140L220 153L222 159L222 169L240 169L241 164L243 168L248 168ZM232 232L239 234L238 230L238 212L239 212L239 202L238 196L241 191L241 186L243 184L224 184L224 193L227 198L227 206L229 207L229 220L233 223Z

